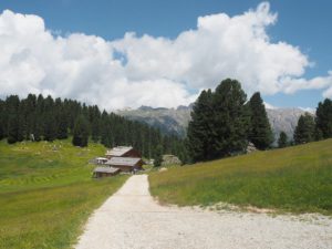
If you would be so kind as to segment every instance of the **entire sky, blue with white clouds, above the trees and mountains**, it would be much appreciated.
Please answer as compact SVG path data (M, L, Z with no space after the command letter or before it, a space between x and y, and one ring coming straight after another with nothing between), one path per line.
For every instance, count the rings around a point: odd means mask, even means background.
M332 97L329 0L2 0L0 97L176 107L221 80L278 107Z

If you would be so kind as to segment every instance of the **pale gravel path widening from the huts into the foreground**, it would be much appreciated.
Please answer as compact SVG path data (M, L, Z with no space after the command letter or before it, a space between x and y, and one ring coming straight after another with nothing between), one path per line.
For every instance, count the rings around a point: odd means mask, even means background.
M332 219L165 207L149 195L147 176L137 175L95 210L75 248L328 249Z

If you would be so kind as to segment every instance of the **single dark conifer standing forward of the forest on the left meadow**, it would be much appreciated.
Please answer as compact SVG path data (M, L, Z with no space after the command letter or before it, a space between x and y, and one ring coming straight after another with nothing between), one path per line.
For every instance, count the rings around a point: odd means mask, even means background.
M89 123L83 115L80 115L74 125L73 131L73 145L80 147L86 147L89 141Z

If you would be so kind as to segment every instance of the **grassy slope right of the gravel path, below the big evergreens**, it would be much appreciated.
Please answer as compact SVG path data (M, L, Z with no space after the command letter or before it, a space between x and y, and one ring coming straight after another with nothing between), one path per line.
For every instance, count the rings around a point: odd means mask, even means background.
M154 172L162 203L332 214L332 139Z

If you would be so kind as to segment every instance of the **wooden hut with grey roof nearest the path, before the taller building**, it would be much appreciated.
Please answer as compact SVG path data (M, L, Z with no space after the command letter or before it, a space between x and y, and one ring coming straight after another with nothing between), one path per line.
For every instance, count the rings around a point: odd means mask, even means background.
M143 169L143 160L138 157L112 157L105 165L118 168L122 172L135 172Z

